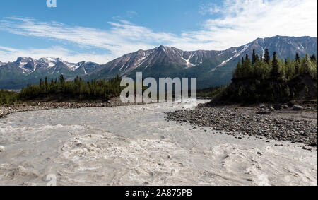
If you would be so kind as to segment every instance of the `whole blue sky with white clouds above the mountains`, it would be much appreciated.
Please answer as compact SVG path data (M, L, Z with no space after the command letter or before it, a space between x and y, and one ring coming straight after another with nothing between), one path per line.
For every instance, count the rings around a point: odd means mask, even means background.
M224 50L259 37L317 37L317 0L56 2L1 1L0 61L59 57L105 64L160 45Z

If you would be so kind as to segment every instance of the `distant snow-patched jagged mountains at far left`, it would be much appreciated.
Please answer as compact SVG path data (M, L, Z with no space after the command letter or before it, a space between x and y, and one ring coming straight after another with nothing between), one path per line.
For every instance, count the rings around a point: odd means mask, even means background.
M65 78L84 76L100 67L93 62L71 63L59 58L33 59L19 57L14 62L0 64L0 88L18 89L28 83L37 83L40 78Z

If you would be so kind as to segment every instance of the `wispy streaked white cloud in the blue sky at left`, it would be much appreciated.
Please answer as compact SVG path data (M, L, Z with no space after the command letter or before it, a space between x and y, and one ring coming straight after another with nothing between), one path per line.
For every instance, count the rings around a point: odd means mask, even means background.
M152 30L133 25L126 20L110 22L110 30L87 27L71 27L58 22L40 22L32 18L6 18L0 21L0 29L16 35L44 37L61 40L85 47L107 49L117 57L138 49L149 49L156 43L175 38L170 33L154 33Z

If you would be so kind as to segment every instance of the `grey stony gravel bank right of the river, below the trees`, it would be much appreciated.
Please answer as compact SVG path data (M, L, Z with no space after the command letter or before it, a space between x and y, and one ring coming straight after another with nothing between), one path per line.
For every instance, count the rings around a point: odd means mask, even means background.
M314 107L313 107L314 108ZM211 107L166 112L165 118L192 124L194 129L211 127L242 139L243 136L303 143L317 147L317 110L302 107ZM269 141L268 141L269 142ZM310 146L310 147L308 147Z

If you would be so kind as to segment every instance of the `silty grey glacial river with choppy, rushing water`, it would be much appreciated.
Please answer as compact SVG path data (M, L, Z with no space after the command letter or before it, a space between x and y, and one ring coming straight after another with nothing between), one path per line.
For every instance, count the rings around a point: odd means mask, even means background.
M0 185L317 185L317 151L165 121L164 112L182 108L46 110L0 119Z

